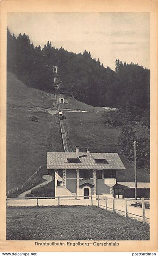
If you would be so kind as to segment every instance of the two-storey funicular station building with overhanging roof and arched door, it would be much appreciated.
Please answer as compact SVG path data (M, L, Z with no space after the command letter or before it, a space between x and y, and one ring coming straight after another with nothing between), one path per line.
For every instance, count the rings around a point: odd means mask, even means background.
M113 196L116 172L125 169L117 153L48 152L55 196Z

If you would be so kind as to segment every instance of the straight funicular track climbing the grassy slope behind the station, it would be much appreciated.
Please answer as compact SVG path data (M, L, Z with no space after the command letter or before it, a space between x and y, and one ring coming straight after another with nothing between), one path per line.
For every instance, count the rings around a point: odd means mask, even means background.
M72 146L70 143L70 139L68 137L68 132L64 124L64 119L59 118L59 112L61 112L61 107L59 103L59 86L58 89L55 90L55 97L56 97L56 107L58 111L58 120L59 120L59 128L61 133L61 140L64 152L72 152Z

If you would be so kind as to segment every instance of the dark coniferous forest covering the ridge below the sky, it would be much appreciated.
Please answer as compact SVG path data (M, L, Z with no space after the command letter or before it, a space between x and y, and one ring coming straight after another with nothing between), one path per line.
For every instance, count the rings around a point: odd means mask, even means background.
M65 94L93 106L117 108L115 112L105 112L102 121L122 126L120 147L130 159L128 143L135 138L131 122L139 122L147 130L150 126L149 69L118 59L113 71L105 68L99 59L93 59L86 50L75 54L62 47L55 48L49 41L41 49L30 42L28 35L15 37L7 29L7 69L27 86L53 92L55 65L58 66L60 88ZM149 166L149 140L142 138L141 143L146 143L146 147L140 152L138 164Z

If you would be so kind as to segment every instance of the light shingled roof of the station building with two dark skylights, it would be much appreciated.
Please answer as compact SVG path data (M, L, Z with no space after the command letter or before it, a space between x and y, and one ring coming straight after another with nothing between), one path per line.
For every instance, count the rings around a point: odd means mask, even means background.
M47 169L125 169L117 153L79 152L81 163L67 163L67 158L76 158L76 152L48 152ZM95 159L106 159L108 163L96 164Z

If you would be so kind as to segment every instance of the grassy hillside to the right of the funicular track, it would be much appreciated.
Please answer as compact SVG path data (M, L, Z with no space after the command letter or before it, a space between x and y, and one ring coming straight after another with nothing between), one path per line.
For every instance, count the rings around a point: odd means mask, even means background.
M66 116L65 122L68 127L73 150L75 150L77 145L81 152L85 152L87 148L90 148L91 152L119 152L118 135L120 127L114 128L102 123L101 115L104 110L102 107L95 108L70 98L66 98L65 102L63 104ZM67 111L68 109L70 110ZM73 109L91 112L70 112ZM141 133L146 133L146 136L149 136L143 126L139 124L134 126L134 130L138 137ZM119 153L119 156L126 170L117 171L117 181L133 182L134 163L130 162L121 153ZM138 182L149 182L149 173L144 169L137 169L137 180Z

